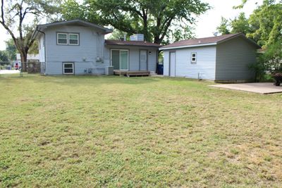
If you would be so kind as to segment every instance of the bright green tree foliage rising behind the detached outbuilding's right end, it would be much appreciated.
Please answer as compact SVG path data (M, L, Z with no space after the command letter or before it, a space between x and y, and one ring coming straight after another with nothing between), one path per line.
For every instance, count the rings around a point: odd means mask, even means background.
M243 4L237 8L241 8L246 2L243 0ZM246 18L245 13L240 13L234 20L221 18L221 25L217 29L222 34L243 32L266 48L282 37L282 4L274 0L264 0L250 18Z

